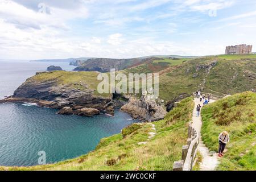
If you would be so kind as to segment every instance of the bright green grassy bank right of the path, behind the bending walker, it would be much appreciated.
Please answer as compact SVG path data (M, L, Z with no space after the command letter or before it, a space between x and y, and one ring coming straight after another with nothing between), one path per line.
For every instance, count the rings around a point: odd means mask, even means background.
M202 137L210 150L218 150L218 134L230 134L228 151L219 170L256 170L256 93L224 98L202 109Z

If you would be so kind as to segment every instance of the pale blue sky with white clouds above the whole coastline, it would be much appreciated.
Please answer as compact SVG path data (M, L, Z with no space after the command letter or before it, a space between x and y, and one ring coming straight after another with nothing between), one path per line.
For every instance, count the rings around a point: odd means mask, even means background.
M255 0L0 0L0 59L256 52L255 32Z

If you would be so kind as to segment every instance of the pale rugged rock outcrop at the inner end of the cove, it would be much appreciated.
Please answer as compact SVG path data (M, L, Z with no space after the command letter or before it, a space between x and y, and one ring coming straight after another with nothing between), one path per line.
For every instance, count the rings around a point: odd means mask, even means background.
M167 114L167 111L157 104L155 98L147 94L141 99L130 97L129 102L122 106L121 110L129 113L133 118L148 122L163 119Z

